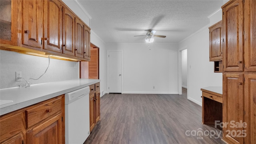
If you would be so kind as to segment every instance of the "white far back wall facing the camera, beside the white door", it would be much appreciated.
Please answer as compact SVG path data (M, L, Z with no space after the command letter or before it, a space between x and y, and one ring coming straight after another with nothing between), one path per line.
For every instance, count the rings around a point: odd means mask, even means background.
M123 50L122 93L178 94L178 44L107 44L107 49Z

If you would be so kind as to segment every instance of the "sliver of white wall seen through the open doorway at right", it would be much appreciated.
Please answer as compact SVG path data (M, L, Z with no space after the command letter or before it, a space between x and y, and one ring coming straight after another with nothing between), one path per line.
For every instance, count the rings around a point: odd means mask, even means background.
M182 87L188 88L188 50L181 52Z

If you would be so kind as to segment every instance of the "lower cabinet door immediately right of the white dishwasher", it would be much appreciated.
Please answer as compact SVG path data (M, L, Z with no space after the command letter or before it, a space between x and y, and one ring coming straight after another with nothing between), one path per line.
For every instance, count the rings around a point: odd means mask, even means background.
M95 113L95 97L94 97L94 93L90 95L89 98L89 106L90 106L90 132L92 131L92 129L95 126L95 117L94 117L94 113Z

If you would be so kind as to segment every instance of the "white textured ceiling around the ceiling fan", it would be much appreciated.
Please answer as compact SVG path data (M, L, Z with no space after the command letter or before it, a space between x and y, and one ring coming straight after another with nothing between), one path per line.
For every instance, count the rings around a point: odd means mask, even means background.
M209 24L222 0L77 0L92 17L90 28L105 43L143 43L148 29L154 43L177 43Z

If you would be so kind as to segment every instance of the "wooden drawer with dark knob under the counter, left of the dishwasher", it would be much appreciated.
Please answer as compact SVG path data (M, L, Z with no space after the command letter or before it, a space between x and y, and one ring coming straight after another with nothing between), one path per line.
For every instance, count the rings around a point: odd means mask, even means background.
M50 100L46 102L40 102L36 104L34 108L26 110L26 127L29 128L34 124L48 118L49 116L55 114L62 110L62 98L57 98L55 100Z

